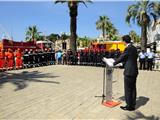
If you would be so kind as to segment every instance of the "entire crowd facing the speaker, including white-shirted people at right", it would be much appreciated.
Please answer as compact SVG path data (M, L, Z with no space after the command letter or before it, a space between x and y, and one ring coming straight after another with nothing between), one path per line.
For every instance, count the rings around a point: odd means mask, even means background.
M122 52L105 50L79 50L72 52L53 50L0 50L0 71L39 67L53 64L104 66L103 57L118 58ZM139 68L141 70L153 70L155 53L150 51L139 52Z

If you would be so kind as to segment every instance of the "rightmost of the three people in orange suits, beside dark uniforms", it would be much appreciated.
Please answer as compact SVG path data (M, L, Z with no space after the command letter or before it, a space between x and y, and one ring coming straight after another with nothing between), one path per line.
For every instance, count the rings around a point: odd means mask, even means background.
M16 57L16 69L22 68L22 52L19 48L15 53L15 57Z

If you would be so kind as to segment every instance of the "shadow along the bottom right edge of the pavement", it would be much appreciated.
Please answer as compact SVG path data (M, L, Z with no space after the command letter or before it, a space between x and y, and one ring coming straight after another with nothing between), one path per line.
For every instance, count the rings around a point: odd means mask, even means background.
M155 115L145 116L140 111L135 111L132 114L127 115L126 120L160 120L160 118Z

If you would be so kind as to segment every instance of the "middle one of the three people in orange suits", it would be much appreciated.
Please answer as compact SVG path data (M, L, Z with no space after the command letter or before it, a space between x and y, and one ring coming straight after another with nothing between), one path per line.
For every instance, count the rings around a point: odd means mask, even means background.
M13 64L14 64L14 54L12 49L8 49L8 52L6 53L6 59L7 59L7 69L12 70Z

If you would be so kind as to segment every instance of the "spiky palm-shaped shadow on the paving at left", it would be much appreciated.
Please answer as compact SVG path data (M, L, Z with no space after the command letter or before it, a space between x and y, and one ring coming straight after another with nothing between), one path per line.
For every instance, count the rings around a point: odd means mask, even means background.
M0 73L0 88L3 87L3 84L9 82L14 84L17 90L24 89L28 86L29 82L43 82L43 83L53 83L53 84L60 84L60 82L55 81L46 81L46 80L38 80L38 78L56 78L59 76L52 76L51 74L43 74L38 71L22 71L21 73L10 73L4 72Z

